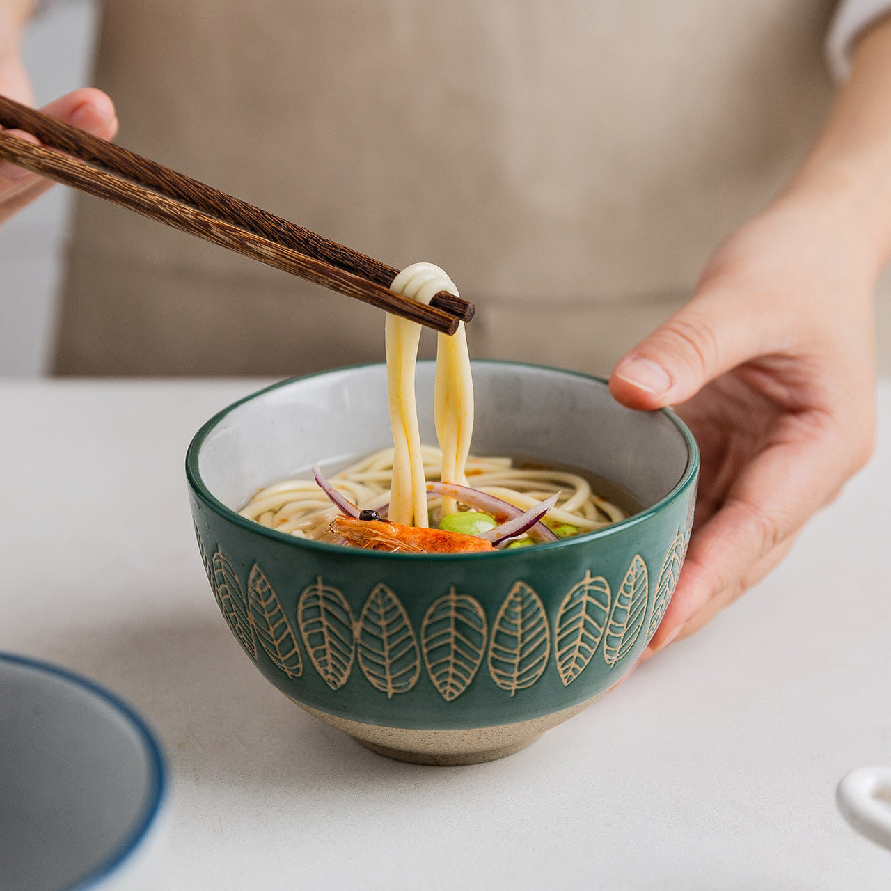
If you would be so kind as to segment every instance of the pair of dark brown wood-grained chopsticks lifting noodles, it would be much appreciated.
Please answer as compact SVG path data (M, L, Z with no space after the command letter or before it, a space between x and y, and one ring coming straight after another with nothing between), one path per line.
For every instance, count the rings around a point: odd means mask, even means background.
M0 130L0 159L58 183L445 334L474 315L472 303L446 291L429 306L396 294L391 266L5 96L0 127L44 143Z

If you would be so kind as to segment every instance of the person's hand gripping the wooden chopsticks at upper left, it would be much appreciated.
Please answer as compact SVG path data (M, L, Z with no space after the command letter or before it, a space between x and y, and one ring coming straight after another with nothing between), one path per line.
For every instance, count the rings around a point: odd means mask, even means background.
M0 95L33 105L34 94L21 63L18 30L12 25L12 17L4 16L3 12L0 9ZM106 94L89 87L50 102L43 111L102 139L110 139L118 132L113 103ZM29 142L38 142L30 134L19 130L11 132ZM51 185L53 183L43 176L29 173L7 161L0 162L0 224Z

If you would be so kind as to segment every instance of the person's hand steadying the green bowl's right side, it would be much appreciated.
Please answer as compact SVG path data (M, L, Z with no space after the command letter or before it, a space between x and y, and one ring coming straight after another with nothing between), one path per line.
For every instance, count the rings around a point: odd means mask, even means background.
M690 548L643 658L762 578L871 454L879 261L846 222L830 192L784 196L612 373L619 402L674 405L701 451Z

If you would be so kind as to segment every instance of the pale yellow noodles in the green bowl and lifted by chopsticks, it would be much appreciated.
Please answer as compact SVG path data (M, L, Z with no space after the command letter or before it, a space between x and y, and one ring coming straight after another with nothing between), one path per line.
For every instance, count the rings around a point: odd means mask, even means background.
M391 290L429 303L441 290L457 295L438 267L417 263L396 276ZM439 334L434 419L439 447L422 445L414 394L421 325L388 315L387 378L393 446L339 470L329 482L360 511L376 511L391 523L437 526L443 517L467 511L454 498L431 496L431 481L470 486L527 511L557 494L544 522L560 536L588 532L625 518L617 505L596 495L584 476L569 470L515 467L510 457L470 455L473 388L464 325L451 337ZM317 541L341 542L331 530L337 507L313 478L266 486L241 509L266 527ZM523 541L525 536L520 536Z

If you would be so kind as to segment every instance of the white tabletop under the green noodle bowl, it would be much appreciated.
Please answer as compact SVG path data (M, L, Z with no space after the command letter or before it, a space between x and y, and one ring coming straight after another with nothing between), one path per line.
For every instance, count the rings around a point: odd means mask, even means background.
M891 382L875 458L772 576L532 747L454 768L317 723L220 617L184 452L257 386L0 381L0 649L153 724L165 888L891 887L834 801L891 764Z

